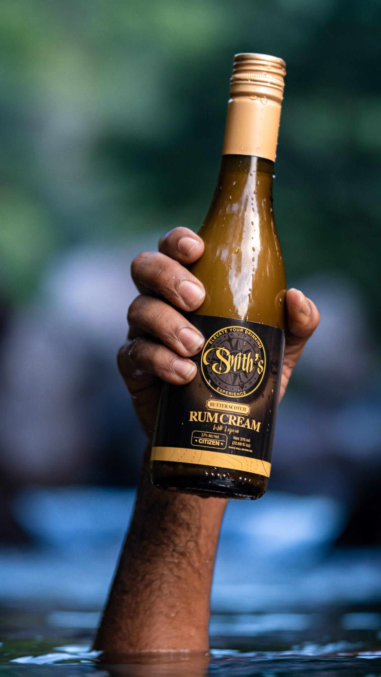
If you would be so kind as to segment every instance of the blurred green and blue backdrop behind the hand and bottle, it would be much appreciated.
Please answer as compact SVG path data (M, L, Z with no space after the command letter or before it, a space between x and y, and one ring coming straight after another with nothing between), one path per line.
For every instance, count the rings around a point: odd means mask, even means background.
M203 219L239 51L287 63L275 215L288 284L322 319L268 494L228 507L212 607L380 603L380 20L379 0L1 3L5 624L22 608L96 625L144 446L115 365L129 265ZM381 628L364 617L342 622Z

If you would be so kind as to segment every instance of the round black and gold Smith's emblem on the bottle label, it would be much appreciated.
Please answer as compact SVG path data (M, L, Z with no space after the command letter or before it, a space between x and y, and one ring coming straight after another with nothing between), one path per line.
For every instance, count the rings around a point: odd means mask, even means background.
M206 341L201 353L201 372L207 385L225 397L254 393L265 370L262 341L247 327L218 330Z

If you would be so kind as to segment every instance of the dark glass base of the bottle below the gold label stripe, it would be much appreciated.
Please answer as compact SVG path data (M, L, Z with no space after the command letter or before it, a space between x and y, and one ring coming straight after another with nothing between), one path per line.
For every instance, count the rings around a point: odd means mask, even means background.
M266 492L268 478L226 468L214 468L189 463L151 461L151 481L159 489L196 494L201 498L239 498L256 500Z

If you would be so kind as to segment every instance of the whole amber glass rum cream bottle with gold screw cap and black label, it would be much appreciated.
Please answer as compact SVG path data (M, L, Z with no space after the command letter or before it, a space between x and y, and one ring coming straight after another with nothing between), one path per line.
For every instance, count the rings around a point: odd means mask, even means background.
M273 214L285 64L235 56L220 174L192 267L205 337L185 386L163 385L151 454L157 487L259 498L270 460L284 351L286 280Z

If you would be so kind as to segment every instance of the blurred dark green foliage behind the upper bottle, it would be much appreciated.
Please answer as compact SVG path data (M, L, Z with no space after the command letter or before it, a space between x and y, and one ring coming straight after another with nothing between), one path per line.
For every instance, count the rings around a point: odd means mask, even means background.
M0 266L15 302L83 241L197 228L233 54L287 62L276 165L289 280L355 278L380 320L378 0L3 0Z

